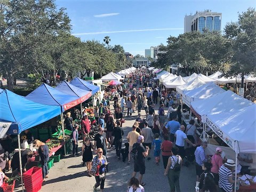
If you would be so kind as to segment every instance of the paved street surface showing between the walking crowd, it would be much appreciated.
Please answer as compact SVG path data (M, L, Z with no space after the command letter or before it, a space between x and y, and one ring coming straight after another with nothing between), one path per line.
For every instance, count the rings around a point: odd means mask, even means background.
M111 109L113 110L113 105L111 105ZM158 106L156 106L155 109L158 109ZM133 116L126 119L126 122L123 124L125 131L123 143L126 142L126 135L131 130L131 126L133 125L137 114L138 112L135 110ZM142 111L142 115L145 115L145 111ZM81 147L82 141L79 143L78 150L81 151ZM116 158L115 150L108 150L107 157L109 161L109 172L107 173L104 191L126 191L127 182L131 178L133 171L133 162L131 162L130 165L127 165L118 160ZM153 149L151 149L150 157L151 160L149 162L146 161L146 173L142 178L142 181L146 183L144 186L145 190L150 192L169 191L167 177L163 175L164 169L162 161L158 166L155 164ZM86 167L82 167L81 163L82 156L67 156L66 158L61 159L59 163L54 163L54 166L49 172L49 178L43 183L41 191L93 191L95 179L94 177L89 177L87 173L85 173ZM189 167L183 166L180 173L181 192L194 192L195 182L196 174L194 165L190 165ZM15 191L21 191L21 187Z

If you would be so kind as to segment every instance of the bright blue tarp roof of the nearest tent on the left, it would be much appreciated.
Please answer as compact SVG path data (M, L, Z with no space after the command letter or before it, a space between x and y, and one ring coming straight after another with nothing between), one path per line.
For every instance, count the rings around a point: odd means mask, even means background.
M0 93L0 122L11 122L7 129L0 130L0 135L19 134L61 113L60 106L42 105L21 97L9 90ZM5 133L4 133L5 132Z

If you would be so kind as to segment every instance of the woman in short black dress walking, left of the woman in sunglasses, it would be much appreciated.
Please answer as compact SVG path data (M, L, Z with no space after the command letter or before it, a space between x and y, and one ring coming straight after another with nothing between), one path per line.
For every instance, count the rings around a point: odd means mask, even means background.
M92 168L92 143L90 138L85 138L85 147L83 153L83 166L86 163L87 171L89 175L91 175Z

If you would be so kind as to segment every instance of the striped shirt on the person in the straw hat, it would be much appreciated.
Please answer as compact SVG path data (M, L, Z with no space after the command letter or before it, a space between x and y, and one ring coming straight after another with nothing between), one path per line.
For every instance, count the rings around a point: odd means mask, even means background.
M232 172L224 165L221 165L219 169L219 177L219 187L225 190L226 192L232 192L233 185L228 181L228 178L232 177Z

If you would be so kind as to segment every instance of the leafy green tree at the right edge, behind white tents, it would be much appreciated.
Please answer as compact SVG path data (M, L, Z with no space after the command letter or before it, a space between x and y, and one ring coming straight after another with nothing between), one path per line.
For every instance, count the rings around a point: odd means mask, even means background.
M238 14L238 21L225 26L225 36L230 40L233 57L226 76L256 73L256 11L253 8Z

